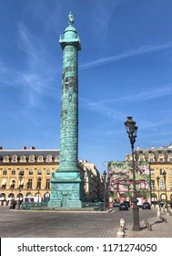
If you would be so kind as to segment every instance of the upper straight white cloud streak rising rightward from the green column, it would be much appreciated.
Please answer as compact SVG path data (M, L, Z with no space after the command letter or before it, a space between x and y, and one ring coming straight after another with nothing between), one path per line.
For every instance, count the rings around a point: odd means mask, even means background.
M117 60L127 59L127 58L131 58L138 55L146 54L153 51L163 50L167 48L172 48L172 42L167 42L166 44L157 45L157 46L147 45L147 46L142 46L140 48L129 49L129 50L126 50L124 53L118 54L116 56L96 59L96 60L87 62L86 64L80 65L79 68L90 69L96 66L105 65L110 62L115 62Z

